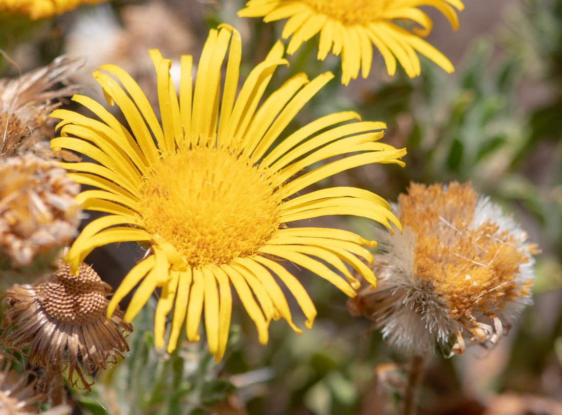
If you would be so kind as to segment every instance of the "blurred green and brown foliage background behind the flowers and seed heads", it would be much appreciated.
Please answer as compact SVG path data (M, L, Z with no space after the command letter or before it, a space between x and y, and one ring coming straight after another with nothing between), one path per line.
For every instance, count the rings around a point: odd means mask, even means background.
M209 29L226 22L242 34L241 79L265 57L280 38L283 22L240 19L236 12L242 7L241 0L114 0L34 22L0 17L0 48L23 71L62 53L85 56L87 64L72 82L100 102L103 96L92 71L102 64L119 65L156 103L149 48L159 48L178 64L184 54L197 60ZM384 142L407 148L405 168L363 166L321 186L362 187L396 201L411 181L472 181L478 192L513 213L542 250L534 305L492 350L472 348L451 359L436 350L422 385L420 414L559 414L562 0L466 0L465 7L455 33L445 17L422 7L434 21L428 42L450 58L456 69L452 75L420 56L421 76L409 79L399 67L389 77L375 51L369 78L343 87L339 57L317 61L318 42L311 39L288 57L291 66L278 69L269 88L273 91L301 71L310 78L333 71L334 80L297 115L285 136L320 116L353 110L364 120L386 122ZM0 74L13 76L17 70L2 59ZM93 218L95 213L89 214ZM357 218L327 217L313 225L373 237L371 224ZM123 243L94 251L86 262L116 287L140 256L137 246ZM229 349L215 364L203 341L184 340L173 355L155 350L155 303L149 303L133 322L129 357L101 373L92 393L69 391L75 413L397 413L407 360L386 348L379 333L370 331L368 320L351 317L342 292L293 271L318 309L311 330L298 336L283 321L274 322L269 344L261 346L253 323L235 304ZM303 327L304 318L292 305L295 322Z

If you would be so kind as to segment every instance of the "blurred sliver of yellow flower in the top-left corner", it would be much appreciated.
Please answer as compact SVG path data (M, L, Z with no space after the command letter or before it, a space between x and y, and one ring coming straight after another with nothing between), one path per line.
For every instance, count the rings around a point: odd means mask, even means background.
M23 13L31 19L44 19L74 10L82 4L96 4L107 0L0 0L0 12Z

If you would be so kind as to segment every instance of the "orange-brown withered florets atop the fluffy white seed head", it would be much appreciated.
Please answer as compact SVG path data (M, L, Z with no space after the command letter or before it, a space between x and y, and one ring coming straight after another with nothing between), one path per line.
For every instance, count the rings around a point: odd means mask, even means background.
M516 276L529 256L490 220L469 226L476 201L470 183L451 183L446 191L442 184L413 184L399 200L402 224L418 233L414 275L433 282L452 318L493 314L528 295Z

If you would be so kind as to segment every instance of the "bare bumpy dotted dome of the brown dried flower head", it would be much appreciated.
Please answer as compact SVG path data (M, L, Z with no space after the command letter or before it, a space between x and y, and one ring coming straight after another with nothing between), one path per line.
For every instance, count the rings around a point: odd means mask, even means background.
M45 313L73 326L93 323L106 312L106 293L101 278L81 263L78 276L63 264L49 281L35 287Z

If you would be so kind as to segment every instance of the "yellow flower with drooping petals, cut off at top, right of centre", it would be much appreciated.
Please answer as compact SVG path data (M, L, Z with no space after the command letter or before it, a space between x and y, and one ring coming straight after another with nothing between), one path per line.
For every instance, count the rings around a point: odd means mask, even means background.
M320 32L318 59L324 60L330 49L334 55L341 53L342 83L346 85L357 78L361 66L363 78L369 75L372 44L379 49L391 76L396 71L396 58L410 78L419 75L416 51L451 73L451 62L419 38L429 34L433 22L418 6L437 8L454 30L459 28L459 19L451 6L464 8L460 0L250 0L246 6L238 16L264 16L265 22L289 17L282 34L283 39L293 36L287 47L289 55ZM411 33L395 20L412 21L422 28Z

